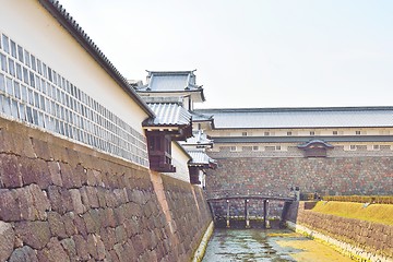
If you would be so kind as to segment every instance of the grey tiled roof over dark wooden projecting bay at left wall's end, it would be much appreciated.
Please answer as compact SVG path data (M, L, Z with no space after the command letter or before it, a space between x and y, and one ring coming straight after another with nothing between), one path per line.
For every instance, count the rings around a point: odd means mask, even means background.
M191 124L191 114L176 103L155 103L147 105L156 116L145 120L143 122L144 127L174 127Z

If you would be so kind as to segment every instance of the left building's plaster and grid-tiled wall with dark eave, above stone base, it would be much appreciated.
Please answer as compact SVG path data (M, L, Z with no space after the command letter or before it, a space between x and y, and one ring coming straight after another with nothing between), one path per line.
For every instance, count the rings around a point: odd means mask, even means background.
M0 24L3 117L148 167L154 112L58 2L4 1Z

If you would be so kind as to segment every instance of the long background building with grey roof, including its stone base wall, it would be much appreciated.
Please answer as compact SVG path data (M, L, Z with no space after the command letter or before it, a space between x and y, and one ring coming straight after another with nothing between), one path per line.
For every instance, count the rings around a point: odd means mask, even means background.
M225 194L392 194L393 108L200 109L205 132L206 191Z

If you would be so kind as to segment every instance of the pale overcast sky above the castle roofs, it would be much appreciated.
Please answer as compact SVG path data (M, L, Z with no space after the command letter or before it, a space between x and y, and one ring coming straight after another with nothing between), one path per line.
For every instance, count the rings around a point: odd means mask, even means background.
M61 0L115 67L193 70L199 108L393 106L391 0Z

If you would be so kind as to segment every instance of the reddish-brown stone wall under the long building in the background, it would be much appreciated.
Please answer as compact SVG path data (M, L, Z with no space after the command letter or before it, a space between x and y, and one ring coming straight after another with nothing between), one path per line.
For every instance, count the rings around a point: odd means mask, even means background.
M392 194L393 157L222 157L218 168L209 170L206 190L219 194L290 195L290 187L300 192L320 194Z

